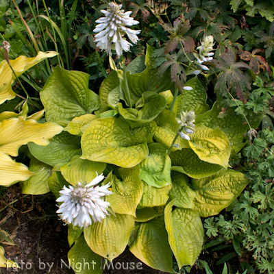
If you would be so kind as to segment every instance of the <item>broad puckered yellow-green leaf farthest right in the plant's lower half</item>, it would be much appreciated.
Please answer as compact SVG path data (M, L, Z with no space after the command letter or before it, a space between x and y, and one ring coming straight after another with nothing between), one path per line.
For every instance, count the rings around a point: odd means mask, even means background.
M190 187L196 192L194 210L202 217L219 214L240 195L248 182L244 174L233 169L221 169L210 177L192 179Z

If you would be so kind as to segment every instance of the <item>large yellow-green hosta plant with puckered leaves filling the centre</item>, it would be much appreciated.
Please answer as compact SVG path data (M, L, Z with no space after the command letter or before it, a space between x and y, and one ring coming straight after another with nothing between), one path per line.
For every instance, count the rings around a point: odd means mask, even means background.
M156 79L152 56L148 46L123 71L111 60L99 95L88 88L90 75L60 66L40 92L47 123L64 129L47 146L28 143L30 169L40 169L23 189L40 194L46 184L58 199L74 269L93 260L90 273L102 273L101 257L114 260L127 245L160 271L174 272L173 254L179 268L192 265L203 245L201 217L221 212L249 182L228 164L249 125L233 109L223 118L217 103L210 110L198 76L174 97L169 71ZM194 130L182 127L189 113ZM251 127L261 119L253 116Z

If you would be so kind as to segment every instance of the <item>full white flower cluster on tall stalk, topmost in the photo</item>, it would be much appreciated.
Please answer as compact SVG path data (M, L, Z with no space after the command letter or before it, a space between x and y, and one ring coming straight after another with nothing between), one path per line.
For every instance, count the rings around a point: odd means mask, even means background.
M137 34L140 34L140 30L132 30L128 27L137 25L139 22L129 17L132 12L121 10L122 5L117 5L114 2L109 3L109 5L110 7L107 10L101 10L105 16L95 21L98 25L93 32L99 32L95 35L95 42L97 42L97 47L105 49L108 55L111 55L111 44L114 43L116 53L120 57L123 50L129 51L130 46L132 46L130 42L123 38L125 34L127 34L129 40L136 44Z

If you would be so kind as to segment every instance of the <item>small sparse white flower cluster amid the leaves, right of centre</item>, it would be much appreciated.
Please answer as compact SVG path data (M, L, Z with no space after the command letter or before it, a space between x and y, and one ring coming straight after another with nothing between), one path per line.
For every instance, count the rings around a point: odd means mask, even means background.
M181 112L180 118L176 118L177 123L182 126L181 131L178 133L183 139L190 140L187 134L193 134L195 132L194 122L196 117L197 115L195 115L195 112L190 110L189 112Z

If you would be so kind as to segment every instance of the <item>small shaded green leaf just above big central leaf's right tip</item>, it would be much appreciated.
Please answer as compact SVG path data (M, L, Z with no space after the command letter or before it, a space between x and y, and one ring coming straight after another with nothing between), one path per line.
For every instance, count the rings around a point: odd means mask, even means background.
M131 129L132 134L135 136L135 145L147 142L147 144L153 142L152 136L155 133L157 124L155 121L145 123L142 127L134 127Z

